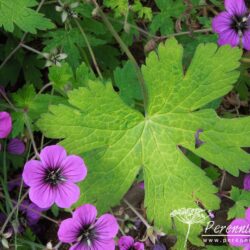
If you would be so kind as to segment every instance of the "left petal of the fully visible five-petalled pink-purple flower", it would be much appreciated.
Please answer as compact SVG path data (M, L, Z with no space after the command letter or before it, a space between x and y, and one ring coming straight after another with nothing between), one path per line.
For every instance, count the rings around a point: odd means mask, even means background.
M23 169L23 181L28 186L37 186L43 183L45 169L40 161L30 160Z

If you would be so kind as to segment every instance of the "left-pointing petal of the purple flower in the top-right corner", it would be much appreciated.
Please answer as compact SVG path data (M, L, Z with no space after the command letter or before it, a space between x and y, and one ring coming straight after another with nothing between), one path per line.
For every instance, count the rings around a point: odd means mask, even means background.
M233 20L231 15L229 15L226 11L221 12L213 19L212 22L213 31L216 33L221 33L226 30L229 30L231 29L232 22Z

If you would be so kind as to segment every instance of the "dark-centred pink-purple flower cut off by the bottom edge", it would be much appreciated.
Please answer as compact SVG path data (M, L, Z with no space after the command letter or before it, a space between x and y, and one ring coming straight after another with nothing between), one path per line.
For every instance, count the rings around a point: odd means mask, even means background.
M74 243L70 250L114 250L114 237L119 229L115 217L104 214L96 219L96 215L96 208L91 204L77 208L72 218L62 221L59 240Z

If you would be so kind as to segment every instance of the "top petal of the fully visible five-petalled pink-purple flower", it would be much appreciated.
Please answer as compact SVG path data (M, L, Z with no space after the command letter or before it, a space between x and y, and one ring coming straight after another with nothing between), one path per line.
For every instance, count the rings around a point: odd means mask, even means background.
M59 145L47 146L40 153L41 161L47 167L60 167L66 157L65 149Z

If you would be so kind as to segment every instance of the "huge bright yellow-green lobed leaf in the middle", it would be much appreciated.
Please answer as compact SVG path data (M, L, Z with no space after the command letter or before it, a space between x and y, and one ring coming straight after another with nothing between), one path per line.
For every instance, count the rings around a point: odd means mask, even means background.
M232 89L241 54L238 48L201 44L184 74L183 48L175 39L167 40L142 67L148 92L145 116L127 106L111 83L97 80L69 92L67 105L51 106L38 126L47 137L62 139L69 153L83 154L88 166L76 205L94 203L100 211L108 210L142 168L148 219L165 232L171 232L175 209L199 203L218 209L217 188L180 146L233 175L249 170L250 156L241 147L250 145L250 118L222 119L213 109L201 109ZM199 140L204 142L198 148L197 130L203 131ZM182 249L187 225L175 223L177 248ZM201 230L198 224L191 227L192 243L203 244Z

